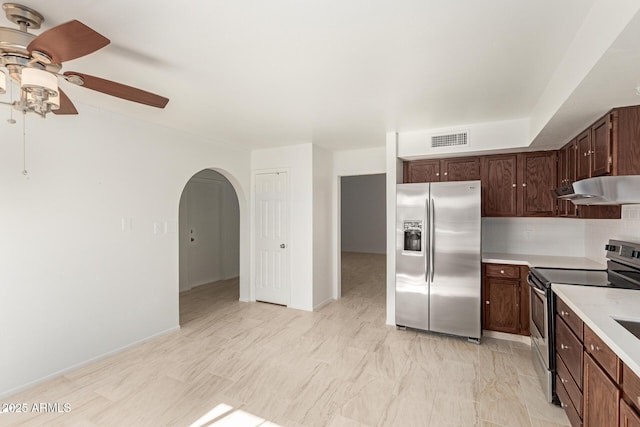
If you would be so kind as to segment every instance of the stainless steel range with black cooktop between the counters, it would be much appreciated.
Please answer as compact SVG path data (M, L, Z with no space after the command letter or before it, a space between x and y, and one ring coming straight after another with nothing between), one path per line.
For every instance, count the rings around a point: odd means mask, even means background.
M549 402L555 393L555 298L551 284L600 286L640 290L640 243L609 240L606 270L534 267L527 281L531 289L531 352Z

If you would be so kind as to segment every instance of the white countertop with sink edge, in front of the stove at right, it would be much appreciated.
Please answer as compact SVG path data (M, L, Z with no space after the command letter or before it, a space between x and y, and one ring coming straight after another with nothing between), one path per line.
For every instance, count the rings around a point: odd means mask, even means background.
M640 339L611 317L640 321L640 291L555 283L551 289L640 377Z

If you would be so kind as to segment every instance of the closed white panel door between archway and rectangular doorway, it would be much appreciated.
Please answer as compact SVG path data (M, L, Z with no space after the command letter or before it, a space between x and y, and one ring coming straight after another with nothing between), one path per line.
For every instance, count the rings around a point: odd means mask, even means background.
M256 175L256 300L289 304L289 183L286 172Z

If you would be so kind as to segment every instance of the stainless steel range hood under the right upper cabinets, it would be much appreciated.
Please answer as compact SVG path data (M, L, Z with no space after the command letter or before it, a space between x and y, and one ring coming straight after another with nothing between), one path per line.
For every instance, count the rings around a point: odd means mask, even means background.
M554 197L575 205L640 204L640 175L599 176L552 190Z

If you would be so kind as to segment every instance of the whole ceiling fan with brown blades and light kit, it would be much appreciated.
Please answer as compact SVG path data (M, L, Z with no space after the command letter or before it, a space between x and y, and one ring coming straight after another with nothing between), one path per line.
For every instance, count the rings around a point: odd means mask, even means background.
M109 39L77 20L36 36L27 30L40 28L44 22L40 13L16 3L5 3L2 8L7 19L20 27L0 27L0 93L6 90L2 67L20 85L20 100L4 104L42 117L47 113L78 114L69 97L58 87L58 78L152 107L164 108L169 102L168 98L151 92L88 74L75 71L61 73L63 62L93 53L108 45Z

